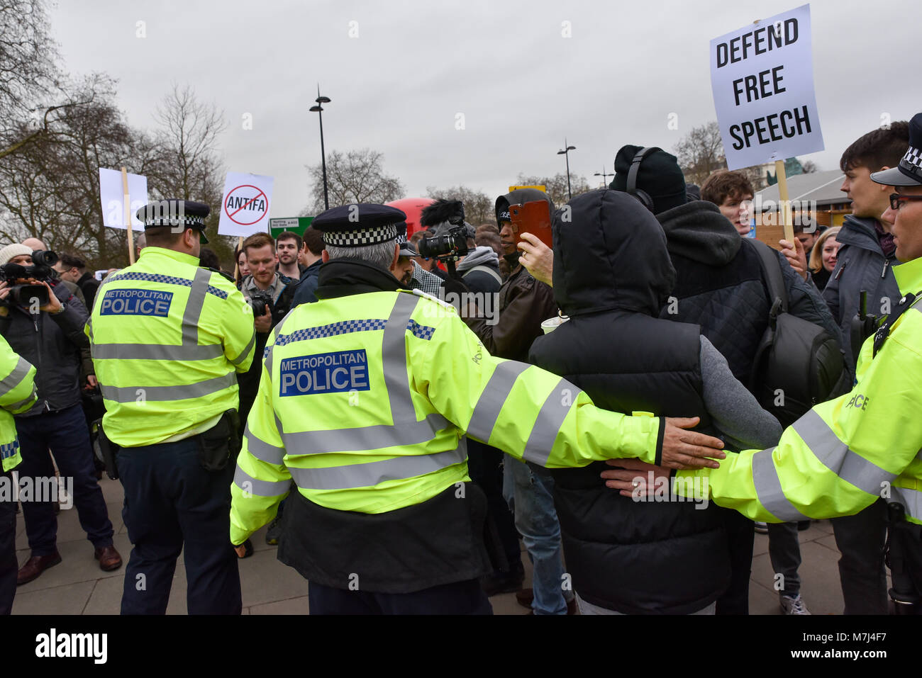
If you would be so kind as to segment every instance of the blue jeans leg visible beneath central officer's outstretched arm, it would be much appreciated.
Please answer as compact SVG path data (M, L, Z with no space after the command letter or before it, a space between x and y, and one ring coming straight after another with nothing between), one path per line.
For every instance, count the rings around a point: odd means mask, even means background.
M554 510L554 480L537 466L519 462L508 454L503 459L502 496L515 517L533 566L532 590L535 614L567 614L564 597L561 524ZM572 597L572 591L567 591Z

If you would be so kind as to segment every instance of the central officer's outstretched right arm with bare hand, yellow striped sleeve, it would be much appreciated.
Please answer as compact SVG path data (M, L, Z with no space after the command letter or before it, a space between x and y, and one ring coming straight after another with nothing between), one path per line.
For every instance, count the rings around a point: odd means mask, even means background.
M454 314L435 324L432 341L419 344L425 352L420 373L414 370L420 390L469 436L514 457L551 468L614 457L685 468L716 467L717 462L703 457L725 456L716 438L655 417L602 410L561 377L491 357Z

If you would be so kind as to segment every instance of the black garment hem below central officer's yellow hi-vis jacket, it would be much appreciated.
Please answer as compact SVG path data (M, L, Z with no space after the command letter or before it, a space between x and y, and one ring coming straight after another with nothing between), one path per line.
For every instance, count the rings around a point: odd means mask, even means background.
M335 589L410 593L467 581L491 571L486 515L487 499L472 483L386 513L326 509L294 492L278 559Z

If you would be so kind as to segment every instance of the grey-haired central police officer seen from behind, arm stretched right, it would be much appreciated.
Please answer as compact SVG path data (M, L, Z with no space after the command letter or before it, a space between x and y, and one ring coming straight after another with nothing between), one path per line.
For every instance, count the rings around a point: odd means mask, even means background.
M454 308L390 273L405 219L360 204L313 220L326 245L320 300L266 343L231 487L231 543L242 544L294 481L278 557L310 581L314 614L491 612L466 432L546 466L723 456L703 447L715 438L597 409L560 377L491 357Z

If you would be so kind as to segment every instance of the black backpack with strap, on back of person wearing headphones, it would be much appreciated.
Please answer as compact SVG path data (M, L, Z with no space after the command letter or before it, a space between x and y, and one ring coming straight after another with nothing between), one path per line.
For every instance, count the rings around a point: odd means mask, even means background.
M759 254L773 299L768 327L752 362L750 391L787 427L816 403L848 392L848 372L837 339L820 325L788 312L788 298L777 253L758 240L749 242Z

